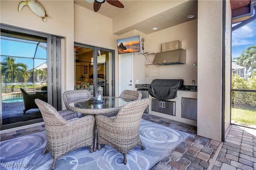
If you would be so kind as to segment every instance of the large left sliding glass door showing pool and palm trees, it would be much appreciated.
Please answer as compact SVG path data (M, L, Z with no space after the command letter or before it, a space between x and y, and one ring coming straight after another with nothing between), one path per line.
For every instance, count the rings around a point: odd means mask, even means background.
M60 37L1 24L0 43L1 130L42 122L34 97L61 110Z

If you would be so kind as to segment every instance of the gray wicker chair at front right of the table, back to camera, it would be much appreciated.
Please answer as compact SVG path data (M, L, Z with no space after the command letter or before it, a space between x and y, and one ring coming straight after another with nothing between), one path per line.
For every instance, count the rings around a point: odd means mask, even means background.
M126 154L135 148L145 147L140 140L140 120L150 99L131 101L124 105L116 117L111 119L104 115L96 115L98 129L98 149L100 144L107 144L124 155L124 164L127 163Z

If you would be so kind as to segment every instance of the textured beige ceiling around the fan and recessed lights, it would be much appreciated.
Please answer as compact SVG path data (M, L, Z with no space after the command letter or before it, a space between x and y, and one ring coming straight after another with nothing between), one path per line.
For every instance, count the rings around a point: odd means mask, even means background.
M122 2L124 8L117 8L105 2L101 5L100 10L97 13L107 16L109 18L114 18L122 14L124 11L137 5L138 3L142 2L142 0L120 0L120 2ZM162 2L164 1L159 0L159 3ZM88 3L86 2L86 0L74 0L74 3L84 8L87 8L88 10L94 11L93 3ZM187 16L191 14L194 14L195 17L192 19L187 18ZM155 30L152 30L153 27L158 27L157 31L160 31L194 19L197 19L197 1L189 0L178 6L175 6L174 8L170 8L169 10L147 18L146 20L143 20L137 24L128 26L127 28L124 28L123 30L120 30L113 34L119 36L131 30L138 30L145 34L150 34L156 32Z

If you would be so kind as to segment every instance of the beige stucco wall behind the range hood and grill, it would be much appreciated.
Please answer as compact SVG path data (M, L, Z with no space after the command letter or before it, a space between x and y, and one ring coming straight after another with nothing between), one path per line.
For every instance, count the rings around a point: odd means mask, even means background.
M197 82L197 68L192 66L197 60L197 20L192 20L171 28L148 34L145 52L160 52L161 43L180 40L182 48L186 49L186 64L159 66L159 77L147 77L147 83L153 79L184 79L184 85Z

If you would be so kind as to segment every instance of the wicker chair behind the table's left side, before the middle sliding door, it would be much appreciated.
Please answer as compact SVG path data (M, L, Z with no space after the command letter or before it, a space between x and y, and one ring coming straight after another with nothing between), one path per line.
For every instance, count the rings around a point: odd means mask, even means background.
M66 106L66 108L68 110L63 110L62 112L65 113L65 112L70 112L70 116L78 116L78 113L74 113L74 112L71 112L69 111L70 109L70 105L69 103L72 102L72 101L75 101L75 100L79 100L79 99L90 99L91 98L91 93L90 91L88 90L69 90L69 91L65 91L62 95L63 97L63 101L64 101L64 104Z

